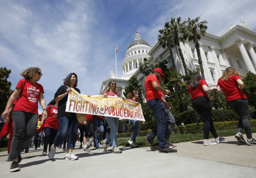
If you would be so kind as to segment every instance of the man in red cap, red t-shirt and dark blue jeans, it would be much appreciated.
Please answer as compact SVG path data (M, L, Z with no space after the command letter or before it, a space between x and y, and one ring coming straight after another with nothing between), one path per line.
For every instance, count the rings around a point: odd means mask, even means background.
M160 78L164 78L160 68L155 68L152 72L152 75L146 77L145 80L145 90L146 90L146 99L147 105L149 109L154 112L154 115L157 120L157 126L152 130L152 132L145 136L148 143L155 148L153 143L153 138L157 135L157 139L159 142L159 152L160 153L170 153L177 152L176 149L171 149L165 143L165 125L168 122L167 114L165 113L165 105L161 101L162 92L165 94L169 94L169 90L163 89L158 80Z

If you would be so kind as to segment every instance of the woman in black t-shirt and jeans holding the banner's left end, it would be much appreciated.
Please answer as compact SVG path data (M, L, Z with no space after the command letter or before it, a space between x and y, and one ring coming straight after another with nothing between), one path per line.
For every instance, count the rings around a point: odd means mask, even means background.
M57 136L55 137L54 143L51 145L50 151L48 153L49 159L53 159L56 147L59 147L63 138L67 136L68 130L70 136L68 139L68 153L66 154L65 160L76 160L78 156L72 153L73 148L76 144L77 130L78 130L78 120L76 118L76 113L66 112L66 105L68 101L68 94L71 92L71 88L80 93L80 90L77 87L77 75L75 73L70 73L63 80L64 85L61 85L56 91L54 98L55 101L58 101L58 120L59 120L59 130Z

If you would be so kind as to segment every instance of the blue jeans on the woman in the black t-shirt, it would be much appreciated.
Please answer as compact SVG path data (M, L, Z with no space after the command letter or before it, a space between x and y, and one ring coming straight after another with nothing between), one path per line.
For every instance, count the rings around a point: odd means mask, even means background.
M60 143L67 136L69 130L69 138L67 148L74 148L77 139L78 121L72 117L58 117L59 119L59 130L54 140L54 146L59 147Z

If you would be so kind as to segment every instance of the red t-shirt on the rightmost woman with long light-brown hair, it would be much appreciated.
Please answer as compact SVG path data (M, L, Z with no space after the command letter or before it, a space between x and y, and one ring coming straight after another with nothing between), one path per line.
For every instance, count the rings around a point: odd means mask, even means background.
M241 79L238 75L233 75L228 81L223 82L221 78L218 81L217 86L220 86L225 93L226 101L237 100L246 98L246 95L242 90L238 88L237 80Z

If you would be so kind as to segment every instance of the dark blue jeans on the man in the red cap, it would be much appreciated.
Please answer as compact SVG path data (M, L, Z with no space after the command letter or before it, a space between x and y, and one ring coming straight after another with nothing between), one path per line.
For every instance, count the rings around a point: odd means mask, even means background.
M168 123L164 103L159 98L155 98L148 100L147 105L149 109L153 111L157 120L157 126L152 130L149 136L154 138L157 135L159 148L164 148L167 146L165 143L165 125Z

